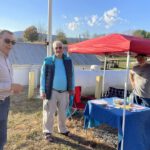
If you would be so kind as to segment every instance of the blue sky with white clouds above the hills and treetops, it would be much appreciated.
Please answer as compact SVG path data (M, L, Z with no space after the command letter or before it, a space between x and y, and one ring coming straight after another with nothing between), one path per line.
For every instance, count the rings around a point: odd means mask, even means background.
M31 25L47 30L48 0L1 0L0 29L25 30ZM53 0L52 32L67 37L150 31L149 0Z

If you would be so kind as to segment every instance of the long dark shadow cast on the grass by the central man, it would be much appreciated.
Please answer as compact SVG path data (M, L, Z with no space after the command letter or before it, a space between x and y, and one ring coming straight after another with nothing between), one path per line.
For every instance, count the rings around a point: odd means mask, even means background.
M94 141L89 141L86 140L85 138L82 138L80 136L77 135L72 135L71 137L68 137L71 140L76 141L77 143L73 143L71 141L65 140L63 138L59 138L59 137L54 137L54 143L58 143L58 144L64 144L66 146L69 146L73 149L78 149L78 150L91 150L91 149L98 149L98 150L115 150L114 148L102 144L102 143L96 143Z

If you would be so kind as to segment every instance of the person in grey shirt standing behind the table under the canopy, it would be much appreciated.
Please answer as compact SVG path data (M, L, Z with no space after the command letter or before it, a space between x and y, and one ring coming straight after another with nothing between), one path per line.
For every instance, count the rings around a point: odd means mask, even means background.
M138 64L130 71L134 102L150 107L150 64L144 54L136 56Z

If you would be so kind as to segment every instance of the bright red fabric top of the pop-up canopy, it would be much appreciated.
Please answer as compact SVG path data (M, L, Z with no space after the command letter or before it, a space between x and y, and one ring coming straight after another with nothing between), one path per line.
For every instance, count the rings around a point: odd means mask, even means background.
M123 34L110 34L68 46L72 53L111 54L134 52L150 55L150 40Z

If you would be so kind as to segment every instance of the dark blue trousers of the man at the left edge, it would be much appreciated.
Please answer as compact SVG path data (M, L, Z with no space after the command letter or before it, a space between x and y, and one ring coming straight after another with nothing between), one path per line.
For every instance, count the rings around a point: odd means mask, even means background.
M7 119L10 106L10 98L5 98L4 101L0 100L0 150L7 141Z

